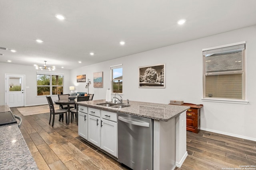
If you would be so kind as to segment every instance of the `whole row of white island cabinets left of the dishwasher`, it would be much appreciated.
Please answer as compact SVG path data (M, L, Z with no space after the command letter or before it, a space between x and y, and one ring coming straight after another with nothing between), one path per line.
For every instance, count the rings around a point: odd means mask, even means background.
M79 135L117 157L117 113L88 107L88 116L86 114L84 117L84 115L78 112ZM79 129L84 131L79 132Z

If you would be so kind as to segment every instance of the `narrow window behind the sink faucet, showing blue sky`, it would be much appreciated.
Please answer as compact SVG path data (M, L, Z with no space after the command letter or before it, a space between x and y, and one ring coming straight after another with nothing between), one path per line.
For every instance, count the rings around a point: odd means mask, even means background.
M123 93L123 68L122 64L110 66L112 93Z

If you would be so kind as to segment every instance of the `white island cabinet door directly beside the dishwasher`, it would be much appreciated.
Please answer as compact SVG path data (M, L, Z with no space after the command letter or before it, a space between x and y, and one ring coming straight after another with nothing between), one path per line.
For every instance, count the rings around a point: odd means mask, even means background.
M100 148L117 157L117 123L101 119Z

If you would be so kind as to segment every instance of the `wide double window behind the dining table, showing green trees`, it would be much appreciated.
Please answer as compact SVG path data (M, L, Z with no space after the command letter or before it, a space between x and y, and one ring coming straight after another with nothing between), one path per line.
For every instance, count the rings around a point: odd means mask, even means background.
M37 96L63 94L64 74L37 72Z

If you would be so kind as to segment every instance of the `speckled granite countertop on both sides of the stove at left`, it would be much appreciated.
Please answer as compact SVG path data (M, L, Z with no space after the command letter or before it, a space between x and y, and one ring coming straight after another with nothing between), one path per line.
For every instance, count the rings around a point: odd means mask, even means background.
M8 106L0 106L6 111ZM0 126L0 156L0 170L38 170L16 123Z

